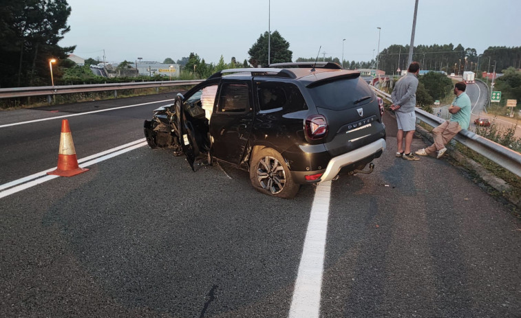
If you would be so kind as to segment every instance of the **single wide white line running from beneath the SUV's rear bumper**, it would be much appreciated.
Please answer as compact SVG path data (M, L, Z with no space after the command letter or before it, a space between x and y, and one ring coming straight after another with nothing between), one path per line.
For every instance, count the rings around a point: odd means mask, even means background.
M319 183L313 198L289 318L319 317L330 198L331 181Z

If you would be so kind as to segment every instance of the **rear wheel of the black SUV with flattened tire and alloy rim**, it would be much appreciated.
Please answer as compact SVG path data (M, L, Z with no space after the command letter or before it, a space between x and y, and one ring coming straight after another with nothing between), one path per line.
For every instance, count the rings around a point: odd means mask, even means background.
M250 181L257 191L279 198L293 198L300 188L282 156L272 148L262 148L253 154Z

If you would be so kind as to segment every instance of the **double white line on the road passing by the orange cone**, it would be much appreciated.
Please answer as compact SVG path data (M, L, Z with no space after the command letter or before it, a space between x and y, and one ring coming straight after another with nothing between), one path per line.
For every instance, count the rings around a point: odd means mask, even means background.
M138 141L142 141L142 139L138 140ZM80 161L86 161L88 160L89 158L96 158L94 160L91 160L91 161L87 161L85 163L82 163L81 165L78 165L80 166L81 168L85 168L85 167L89 167L89 166L92 166L94 165L94 163L98 163L98 162L101 162L101 161L104 161L104 160L107 160L107 159L110 159L112 157L116 157L118 155L121 155L125 152L129 152L131 150L134 150L136 148L140 148L142 146L146 146L147 145L147 141L142 141L140 142L139 144L135 144L134 143L130 143L130 144L134 144L134 146L129 146L127 148L123 148L121 149L121 147L123 146L119 146L119 147L116 147L116 148L112 148L112 149L109 149L109 150L106 150L104 152L100 152L99 154L97 155L92 155L92 156L89 156L89 157L85 157L83 159L80 159L78 160L78 163ZM128 145L128 144L127 144ZM125 146L125 145L124 145ZM117 151L116 151L117 150ZM104 155L103 157L98 157L100 154L103 154L103 153L109 153L108 155ZM17 185L16 187L14 188L10 188L8 190L3 190L0 192L0 198L3 198L3 197L6 197L6 196L9 196L11 194L14 194L14 193L17 193L17 192L20 192L22 190L26 190L28 188L32 188L34 187L34 185L39 185L40 183L44 183L44 182L47 182L47 181L50 181L56 177L59 177L59 176L56 176L56 175L52 175L52 176L49 176L47 175L47 171L52 171L54 170L55 168L52 168L52 169L48 169L48 170L45 170L45 171L42 171L42 172L39 172L37 173L38 175L40 175L41 177L39 179L36 179L36 180L33 180L33 181L30 181L28 183L23 183L21 185ZM87 172L88 173L88 172ZM32 176L34 176L36 174L32 174ZM29 176L29 177L32 177L32 176ZM22 179L27 179L28 177L25 177L25 178L22 178ZM22 180L22 179L19 179L19 180ZM32 178L34 179L34 178ZM15 181L12 181L11 183L16 183L16 184L19 184L21 182L18 182L19 180L15 180ZM25 182L25 181L22 181L22 182ZM1 185L3 188L6 188L4 187L5 185L7 185L9 183L6 183L4 185ZM12 186L12 185L10 185Z

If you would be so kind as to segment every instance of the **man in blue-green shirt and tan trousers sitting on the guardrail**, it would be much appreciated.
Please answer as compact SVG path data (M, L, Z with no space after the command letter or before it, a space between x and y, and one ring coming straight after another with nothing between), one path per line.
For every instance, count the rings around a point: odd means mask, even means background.
M447 151L445 145L454 136L458 135L460 130L469 128L471 104L469 96L465 93L466 89L467 84L465 84L465 82L457 82L456 85L454 85L456 98L454 98L451 106L449 106L449 113L451 113L450 120L447 120L432 130L434 144L414 152L416 155L428 156L438 151L436 158L440 159Z

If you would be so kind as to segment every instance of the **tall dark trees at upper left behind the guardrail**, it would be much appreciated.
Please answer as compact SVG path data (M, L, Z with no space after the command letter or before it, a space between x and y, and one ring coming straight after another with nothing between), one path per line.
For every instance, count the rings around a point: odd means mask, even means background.
M49 60L64 60L75 46L58 42L70 31L66 0L3 0L0 5L0 86L50 84ZM58 63L59 64L59 63ZM56 77L60 72L56 70Z

